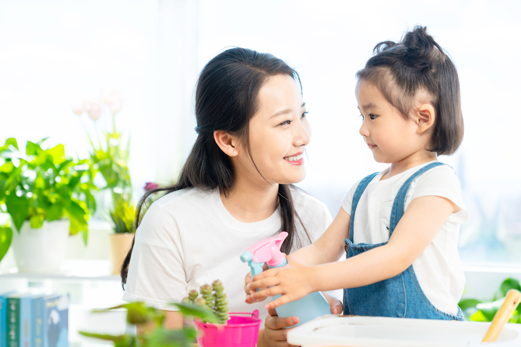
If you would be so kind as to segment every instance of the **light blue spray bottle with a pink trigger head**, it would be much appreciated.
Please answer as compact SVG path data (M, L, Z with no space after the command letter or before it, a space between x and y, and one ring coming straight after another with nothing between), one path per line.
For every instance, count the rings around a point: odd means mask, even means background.
M282 232L279 236L269 237L262 241L258 241L255 245L249 247L241 255L241 260L245 263L248 262L252 269L252 277L262 272L264 263L268 264L268 267L282 267L288 264L284 253L280 251L282 242L288 233ZM258 290L258 289L257 289ZM281 295L274 295L272 300L280 298ZM299 317L299 326L303 323L308 322L318 316L331 314L331 306L327 302L324 295L319 291L308 294L306 297L283 304L275 309L279 317Z

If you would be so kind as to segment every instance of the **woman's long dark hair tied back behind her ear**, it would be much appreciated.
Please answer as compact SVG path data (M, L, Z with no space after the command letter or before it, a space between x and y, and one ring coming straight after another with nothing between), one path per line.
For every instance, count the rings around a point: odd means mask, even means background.
M233 166L230 157L217 146L214 131L224 130L239 136L246 144L251 158L248 125L257 113L259 90L270 76L281 74L291 76L300 84L299 75L286 62L271 54L258 53L251 49L231 48L206 64L199 75L195 91L195 131L198 133L195 144L177 183L147 191L141 198L136 209L135 230L138 230L147 198L152 194L168 194L191 187L207 190L218 188L220 192L228 194L234 183ZM282 230L288 232L281 247L285 253L289 253L293 246L303 246L300 235L296 232L295 224L297 220L300 222L300 218L293 206L290 186L292 185L279 184L278 189ZM305 228L304 232L311 242ZM134 240L121 267L123 288L127 282Z

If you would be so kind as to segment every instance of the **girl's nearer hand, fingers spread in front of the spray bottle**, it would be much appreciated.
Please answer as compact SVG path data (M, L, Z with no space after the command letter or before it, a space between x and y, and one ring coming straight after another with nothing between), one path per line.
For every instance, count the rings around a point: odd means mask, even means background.
M291 255L286 255L286 259L288 265L264 271L253 277L253 282L247 285L247 289L252 291L250 298L253 300L282 294L277 300L266 304L268 310L302 299L307 294L316 291L310 271L313 267L306 266ZM259 291L255 292L257 288Z

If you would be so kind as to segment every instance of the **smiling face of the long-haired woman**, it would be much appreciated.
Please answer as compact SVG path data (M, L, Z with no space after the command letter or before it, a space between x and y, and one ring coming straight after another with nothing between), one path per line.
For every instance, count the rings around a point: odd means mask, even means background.
M301 182L306 176L304 149L311 140L306 113L295 80L289 75L270 77L259 91L258 111L250 121L252 158L242 144L243 150L234 157L236 172L265 184Z

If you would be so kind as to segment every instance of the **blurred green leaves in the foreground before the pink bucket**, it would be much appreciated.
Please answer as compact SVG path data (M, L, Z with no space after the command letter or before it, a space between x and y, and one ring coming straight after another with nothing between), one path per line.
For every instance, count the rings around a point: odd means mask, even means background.
M184 316L208 319L213 322L218 320L212 310L208 310L206 307L196 306L192 303L174 303L173 305L177 306ZM118 309L127 310L127 323L142 324L147 329L143 329L144 332L138 333L137 336L128 334L106 335L85 331L80 331L80 334L86 337L113 341L115 347L137 347L138 345L146 347L189 347L192 343L195 343L196 331L194 328L165 329L162 326L165 319L164 312L154 309L154 307L145 306L143 302L132 302L93 312L102 313Z

